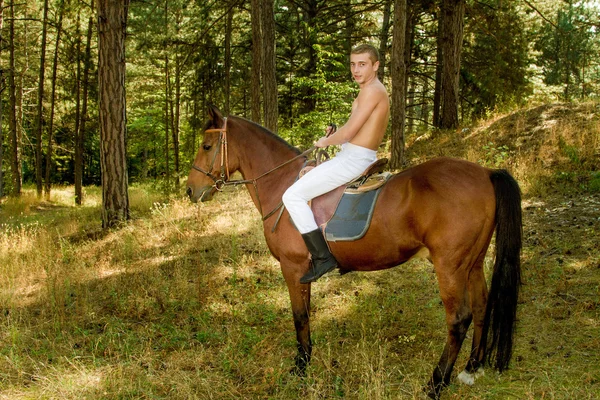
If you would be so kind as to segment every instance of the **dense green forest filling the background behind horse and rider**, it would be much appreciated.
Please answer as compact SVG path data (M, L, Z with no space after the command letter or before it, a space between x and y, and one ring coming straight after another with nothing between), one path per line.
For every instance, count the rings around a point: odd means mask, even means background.
M400 3L126 2L129 181L181 191L208 104L299 147L327 123L343 124L357 92L348 69L353 46L380 49L380 79L392 91ZM408 0L403 134L440 127L440 22L450 3L464 6L462 125L532 102L598 97L598 1ZM101 183L96 7L94 0L0 1L0 196L22 183L43 181L47 191L76 179Z

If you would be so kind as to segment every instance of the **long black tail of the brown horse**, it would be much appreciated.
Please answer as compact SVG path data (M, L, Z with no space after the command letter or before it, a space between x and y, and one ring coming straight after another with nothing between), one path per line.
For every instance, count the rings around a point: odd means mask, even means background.
M496 261L481 344L485 351L484 362L502 372L508 368L512 356L521 286L521 190L506 170L492 171L490 180L496 194Z

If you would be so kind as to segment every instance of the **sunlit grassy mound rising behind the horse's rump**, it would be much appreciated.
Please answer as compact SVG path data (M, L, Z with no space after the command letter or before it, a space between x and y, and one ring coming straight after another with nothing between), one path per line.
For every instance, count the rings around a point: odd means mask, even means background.
M409 136L407 144L411 165L444 155L507 168L526 196L552 192L555 183L600 191L600 103L530 107L460 131Z

